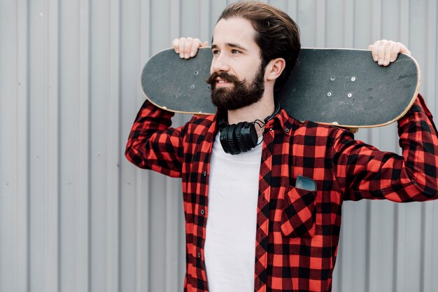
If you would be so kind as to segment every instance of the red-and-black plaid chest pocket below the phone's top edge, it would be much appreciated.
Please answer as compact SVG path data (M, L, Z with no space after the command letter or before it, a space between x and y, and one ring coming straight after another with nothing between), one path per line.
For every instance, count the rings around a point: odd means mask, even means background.
M316 222L316 190L288 186L281 214L281 232L287 237L313 237Z

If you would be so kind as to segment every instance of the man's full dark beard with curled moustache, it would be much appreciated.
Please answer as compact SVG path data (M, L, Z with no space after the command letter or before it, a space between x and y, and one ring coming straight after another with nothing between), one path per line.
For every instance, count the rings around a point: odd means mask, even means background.
M233 88L216 88L216 79L233 83ZM224 110L241 109L250 104L255 104L262 99L264 92L264 67L260 66L253 81L248 83L245 79L240 81L234 75L227 72L213 72L206 83L211 85L211 102L218 108Z

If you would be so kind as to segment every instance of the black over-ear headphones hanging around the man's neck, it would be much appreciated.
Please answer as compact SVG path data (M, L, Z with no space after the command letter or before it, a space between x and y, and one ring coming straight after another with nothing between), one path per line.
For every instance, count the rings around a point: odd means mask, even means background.
M252 123L241 122L237 124L228 125L225 121L225 117L219 119L219 130L220 130L220 144L224 149L225 153L232 155L239 154L241 152L246 152L257 146L257 132L255 131L255 123L262 123L266 125L269 120L274 118L274 116L280 111L281 106L277 102L274 113L271 116L261 120L255 120Z

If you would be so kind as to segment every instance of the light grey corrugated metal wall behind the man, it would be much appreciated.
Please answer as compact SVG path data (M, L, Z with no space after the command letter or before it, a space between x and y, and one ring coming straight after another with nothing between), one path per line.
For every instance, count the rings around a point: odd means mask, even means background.
M182 290L179 181L123 151L143 64L229 2L0 0L1 292ZM407 44L438 113L436 0L269 2L306 47ZM357 137L398 151L394 126ZM437 203L344 204L334 291L438 291Z

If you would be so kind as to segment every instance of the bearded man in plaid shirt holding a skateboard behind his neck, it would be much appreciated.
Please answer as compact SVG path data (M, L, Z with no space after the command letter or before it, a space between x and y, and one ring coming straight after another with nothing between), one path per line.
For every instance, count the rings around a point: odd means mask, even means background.
M200 46L174 41L181 57ZM438 139L420 95L398 122L403 156L381 152L278 109L275 91L300 48L285 13L252 1L227 6L211 48L218 113L174 129L173 113L146 101L126 149L135 165L182 177L185 291L330 291L344 200L437 198ZM370 48L382 65L409 54L390 41Z

